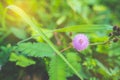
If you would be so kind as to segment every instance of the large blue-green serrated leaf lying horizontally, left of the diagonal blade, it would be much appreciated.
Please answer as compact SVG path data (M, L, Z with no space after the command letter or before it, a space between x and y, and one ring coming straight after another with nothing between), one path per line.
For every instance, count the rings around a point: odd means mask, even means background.
M32 57L52 57L54 55L53 49L45 43L21 43L16 46L16 50Z

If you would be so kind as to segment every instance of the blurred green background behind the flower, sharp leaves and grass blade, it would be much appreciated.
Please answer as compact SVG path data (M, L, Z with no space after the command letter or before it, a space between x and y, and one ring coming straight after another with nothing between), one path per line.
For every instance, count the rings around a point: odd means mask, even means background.
M42 28L53 30L72 25L109 24L120 26L119 0L0 0L0 80L48 80L46 64L48 58L29 57L37 64L26 68L9 60L14 46L21 40L36 36L17 14L6 10L16 5L24 10L33 22ZM109 31L86 33L90 42L104 42ZM49 39L63 49L76 33L46 33ZM30 38L30 42L44 42L41 37ZM85 80L120 79L120 41L107 45L90 46L80 52L82 74ZM68 52L74 51L70 49ZM96 61L98 60L98 62ZM45 61L46 60L46 61ZM23 60L24 61L24 60ZM25 63L26 64L26 63ZM77 64L75 64L77 65ZM79 80L75 75L67 80Z

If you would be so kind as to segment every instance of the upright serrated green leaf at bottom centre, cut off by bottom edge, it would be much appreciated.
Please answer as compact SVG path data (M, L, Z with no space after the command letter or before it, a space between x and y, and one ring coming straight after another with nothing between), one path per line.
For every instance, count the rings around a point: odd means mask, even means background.
M49 80L66 80L66 64L58 55L53 56L49 67Z

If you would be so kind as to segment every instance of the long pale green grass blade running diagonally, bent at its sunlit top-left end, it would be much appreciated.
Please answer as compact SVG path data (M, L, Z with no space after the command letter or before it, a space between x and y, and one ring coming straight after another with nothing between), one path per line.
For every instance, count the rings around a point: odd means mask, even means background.
M29 18L29 16L20 8L18 8L15 5L10 5L7 7L8 9L11 9L12 11L14 11L15 13L17 13L19 16L21 16L21 18L27 23L29 24L34 30L36 30L41 37L50 45L50 47L56 52L57 55L59 55L63 61L75 72L75 74L81 79L83 80L82 76L78 73L78 71L66 60L66 58L61 54L61 52L59 50L57 50L57 48L54 46L54 44L47 38L47 36L44 34L43 30L39 27L37 27L32 20Z

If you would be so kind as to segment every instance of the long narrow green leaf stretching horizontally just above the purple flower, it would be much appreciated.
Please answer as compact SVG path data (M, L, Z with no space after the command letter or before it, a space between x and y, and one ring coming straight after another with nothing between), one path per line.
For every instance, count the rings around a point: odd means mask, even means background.
M56 32L96 32L112 30L110 25L76 25L65 28L56 29Z

